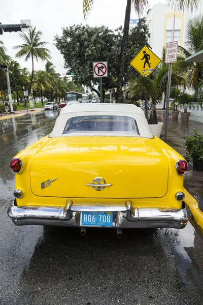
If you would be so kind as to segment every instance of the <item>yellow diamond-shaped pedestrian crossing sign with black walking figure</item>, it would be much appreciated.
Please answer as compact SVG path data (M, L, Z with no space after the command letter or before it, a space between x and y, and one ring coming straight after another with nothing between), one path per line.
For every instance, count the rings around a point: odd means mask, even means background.
M160 64L161 59L144 46L140 52L131 60L130 65L142 76L148 77Z

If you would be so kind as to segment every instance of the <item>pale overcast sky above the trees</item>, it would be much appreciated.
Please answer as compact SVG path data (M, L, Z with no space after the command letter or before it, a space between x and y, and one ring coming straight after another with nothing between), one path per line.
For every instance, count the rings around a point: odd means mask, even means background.
M3 0L2 0L3 1ZM153 4L165 3L165 0L149 0L149 7ZM56 71L65 73L63 69L64 60L62 55L53 45L56 34L61 35L61 27L72 24L89 24L91 26L106 25L112 29L124 24L126 0L95 0L94 8L87 20L84 20L82 11L82 0L6 0L1 5L0 22L3 24L20 23L21 19L31 19L32 26L36 26L43 32L42 40L49 42L47 48L51 51L51 62L56 66ZM131 18L137 18L132 11ZM22 44L17 33L4 33L0 40L8 49L8 54L15 59L15 45ZM31 63L24 59L17 59L21 67L31 70ZM35 69L44 69L45 63L35 63Z

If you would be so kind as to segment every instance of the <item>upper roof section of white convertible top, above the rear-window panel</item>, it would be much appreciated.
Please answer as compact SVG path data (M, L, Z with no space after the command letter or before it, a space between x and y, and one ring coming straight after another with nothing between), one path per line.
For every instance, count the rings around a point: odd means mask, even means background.
M136 113L142 116L144 111L133 104L107 104L107 103L80 103L67 105L60 111L60 115L70 112L94 112L94 111L104 111L104 112L126 112L126 113Z

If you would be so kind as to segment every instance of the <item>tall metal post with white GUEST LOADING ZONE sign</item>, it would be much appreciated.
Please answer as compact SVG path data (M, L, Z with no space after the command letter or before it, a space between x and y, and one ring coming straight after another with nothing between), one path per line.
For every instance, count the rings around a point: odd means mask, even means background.
M177 54L178 54L178 41L174 41L175 18L176 18L176 15L174 15L174 28L173 28L172 42L166 43L166 46L165 46L165 63L168 64L168 83L167 83L167 91L166 91L164 142L166 142L166 138L167 138L168 110L169 110L168 108L169 108L169 100L170 100L170 93L171 93L172 63L177 62Z

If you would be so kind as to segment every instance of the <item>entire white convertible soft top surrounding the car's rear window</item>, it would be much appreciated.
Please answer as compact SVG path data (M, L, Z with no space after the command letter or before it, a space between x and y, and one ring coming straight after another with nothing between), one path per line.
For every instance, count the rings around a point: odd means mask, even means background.
M88 116L88 115L117 115L132 117L136 120L139 135L132 134L113 134L113 133L65 133L63 134L66 122L68 119L77 116ZM50 133L49 137L69 137L69 136L136 136L142 138L153 138L148 126L148 122L145 118L144 111L133 105L133 104L106 104L106 103L80 103L66 105L60 111L60 115L56 119L53 131Z

